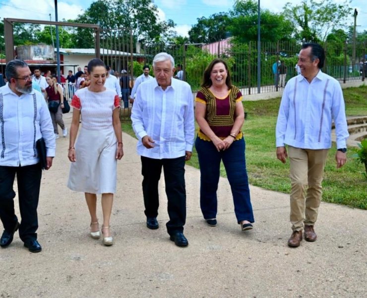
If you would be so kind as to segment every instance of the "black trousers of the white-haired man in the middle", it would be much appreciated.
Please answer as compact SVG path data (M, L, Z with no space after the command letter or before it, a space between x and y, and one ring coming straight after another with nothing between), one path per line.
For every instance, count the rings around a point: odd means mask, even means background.
M185 156L164 159L141 156L144 213L147 217L158 216L158 181L161 178L162 166L170 217L170 221L166 224L167 231L169 234L175 231L183 232L186 221Z

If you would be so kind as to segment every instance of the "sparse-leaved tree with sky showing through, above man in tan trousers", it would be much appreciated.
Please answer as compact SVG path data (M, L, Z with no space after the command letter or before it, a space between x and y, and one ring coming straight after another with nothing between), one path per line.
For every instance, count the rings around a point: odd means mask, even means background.
M325 41L328 33L333 29L345 28L347 17L351 15L350 0L336 4L333 0L303 0L293 5L288 2L284 6L287 19L300 27L296 30L296 38L307 42Z

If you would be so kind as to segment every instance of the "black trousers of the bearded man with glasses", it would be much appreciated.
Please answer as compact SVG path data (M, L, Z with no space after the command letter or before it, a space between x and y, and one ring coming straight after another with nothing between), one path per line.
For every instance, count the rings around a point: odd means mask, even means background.
M19 237L23 242L37 239L37 206L40 195L41 164L27 166L0 166L0 219L4 229L11 232L18 218L14 211L15 174L18 184L19 210L22 218Z

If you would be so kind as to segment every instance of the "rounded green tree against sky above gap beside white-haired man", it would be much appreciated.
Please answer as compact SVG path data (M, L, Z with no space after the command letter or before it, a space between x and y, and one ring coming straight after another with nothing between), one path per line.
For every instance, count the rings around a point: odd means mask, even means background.
M188 31L191 43L211 43L228 37L231 18L227 13L214 13L208 18L200 17L197 24Z

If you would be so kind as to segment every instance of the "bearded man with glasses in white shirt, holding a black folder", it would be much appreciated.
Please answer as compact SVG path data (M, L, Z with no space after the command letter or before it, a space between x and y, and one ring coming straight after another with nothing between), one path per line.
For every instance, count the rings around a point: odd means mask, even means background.
M41 251L37 241L37 205L42 166L37 140L46 143L46 169L55 156L55 135L45 98L32 89L31 71L22 60L7 63L8 83L0 88L0 219L4 226L0 246L7 247L19 228L20 239L31 252ZM21 222L14 211L13 183L18 184Z

